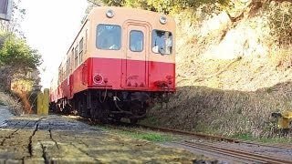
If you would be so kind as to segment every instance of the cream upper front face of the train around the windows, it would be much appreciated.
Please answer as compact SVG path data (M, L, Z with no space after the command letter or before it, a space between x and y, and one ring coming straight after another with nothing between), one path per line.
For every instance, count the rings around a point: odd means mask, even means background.
M106 13L111 10L114 14L109 18ZM160 18L166 17L166 24L162 25ZM125 8L125 7L112 7L100 6L94 8L89 14L90 24L90 40L89 40L89 53L87 57L98 56L104 58L122 58L126 59L126 52L129 46L127 45L127 38L129 36L127 28L129 25L145 26L147 30L148 42L145 47L148 49L148 61L157 61L165 63L174 63L175 60L175 22L170 16L155 13L147 10ZM96 46L97 26L98 25L117 25L121 28L121 47L119 50L103 50ZM162 56L159 53L154 53L151 49L151 35L152 30L169 31L172 33L172 54ZM147 39L146 39L147 40Z

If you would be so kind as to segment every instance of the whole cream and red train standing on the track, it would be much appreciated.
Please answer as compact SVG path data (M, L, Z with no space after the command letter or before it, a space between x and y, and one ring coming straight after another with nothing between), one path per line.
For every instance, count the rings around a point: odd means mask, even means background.
M49 108L136 123L175 92L175 21L114 6L93 8L58 67Z

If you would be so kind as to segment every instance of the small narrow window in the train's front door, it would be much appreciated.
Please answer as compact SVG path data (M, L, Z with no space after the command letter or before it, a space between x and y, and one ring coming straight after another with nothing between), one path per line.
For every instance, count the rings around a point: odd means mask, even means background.
M143 51L144 34L141 31L130 31L130 50L133 52Z

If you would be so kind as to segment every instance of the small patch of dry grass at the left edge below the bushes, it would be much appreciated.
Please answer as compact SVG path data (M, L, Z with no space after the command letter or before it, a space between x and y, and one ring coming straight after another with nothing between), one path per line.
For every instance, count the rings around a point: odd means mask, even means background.
M15 115L23 114L23 107L21 103L18 102L16 98L5 94L3 91L0 91L0 104L9 107Z

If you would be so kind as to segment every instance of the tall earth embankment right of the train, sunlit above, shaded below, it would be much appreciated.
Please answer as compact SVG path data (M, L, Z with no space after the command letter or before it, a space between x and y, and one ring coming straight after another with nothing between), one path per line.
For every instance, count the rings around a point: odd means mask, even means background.
M271 113L292 108L292 46L289 35L278 33L289 33L278 25L292 25L292 5L245 2L236 1L230 10L208 13L203 6L175 15L177 92L169 108L152 108L146 122L270 136Z

